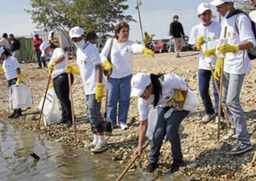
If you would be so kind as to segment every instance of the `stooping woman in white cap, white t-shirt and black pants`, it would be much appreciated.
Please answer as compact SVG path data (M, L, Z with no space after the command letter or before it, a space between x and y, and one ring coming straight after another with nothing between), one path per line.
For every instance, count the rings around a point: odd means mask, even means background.
M50 56L48 65L49 73L52 76L53 87L62 107L62 119L59 123L66 123L66 128L72 125L71 102L69 100L69 81L66 73L66 56L61 48L54 44L43 42L40 45L42 57L47 54ZM71 74L71 83L73 83L73 74Z

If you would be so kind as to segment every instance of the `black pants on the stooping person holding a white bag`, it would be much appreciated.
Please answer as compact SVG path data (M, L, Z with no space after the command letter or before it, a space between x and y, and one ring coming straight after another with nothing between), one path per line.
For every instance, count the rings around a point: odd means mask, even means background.
M71 75L71 84L73 84L73 74ZM62 107L62 119L71 121L71 102L69 100L69 80L68 74L60 74L53 79L53 87Z

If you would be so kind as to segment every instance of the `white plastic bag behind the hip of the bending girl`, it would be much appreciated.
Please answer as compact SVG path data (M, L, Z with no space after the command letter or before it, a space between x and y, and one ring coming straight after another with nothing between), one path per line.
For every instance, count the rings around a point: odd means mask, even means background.
M184 102L183 110L185 111L195 111L199 107L199 100L197 93L193 90L188 89L187 97Z

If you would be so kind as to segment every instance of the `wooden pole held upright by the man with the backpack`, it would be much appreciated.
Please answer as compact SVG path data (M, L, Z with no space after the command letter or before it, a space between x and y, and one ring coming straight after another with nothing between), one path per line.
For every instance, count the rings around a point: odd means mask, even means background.
M227 26L224 28L224 38L226 38ZM219 110L218 110L218 134L217 139L220 140L220 118L221 118L221 105L222 105L222 89L223 89L223 68L224 68L224 58L220 67L220 96L219 96Z

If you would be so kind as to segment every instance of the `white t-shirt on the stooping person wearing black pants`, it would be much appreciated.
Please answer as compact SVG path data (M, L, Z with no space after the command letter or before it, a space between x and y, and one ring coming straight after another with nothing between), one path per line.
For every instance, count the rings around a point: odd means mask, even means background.
M58 58L59 56L64 56L65 59L62 62L57 63L53 67L52 79L54 79L55 77L58 77L60 74L64 74L66 72L66 70L65 70L65 67L66 67L66 56L65 56L65 52L61 48L54 49L54 51L52 52L50 63L52 61L54 61L56 58Z

